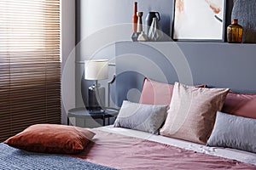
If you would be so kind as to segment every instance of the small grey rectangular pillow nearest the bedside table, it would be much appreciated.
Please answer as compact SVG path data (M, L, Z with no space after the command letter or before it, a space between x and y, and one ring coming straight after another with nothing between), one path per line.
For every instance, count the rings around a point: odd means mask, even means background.
M144 105L123 101L113 127L125 127L148 133L159 133L166 120L167 105Z

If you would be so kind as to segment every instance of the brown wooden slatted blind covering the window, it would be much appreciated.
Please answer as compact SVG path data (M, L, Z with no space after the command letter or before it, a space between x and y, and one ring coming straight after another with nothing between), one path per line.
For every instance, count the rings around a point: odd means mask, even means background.
M60 0L0 1L0 142L61 123Z

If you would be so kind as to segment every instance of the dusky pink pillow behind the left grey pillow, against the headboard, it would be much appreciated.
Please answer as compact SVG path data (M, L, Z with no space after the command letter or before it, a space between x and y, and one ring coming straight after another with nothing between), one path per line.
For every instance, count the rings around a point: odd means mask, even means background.
M139 103L148 105L170 105L173 87L173 84L155 82L149 78L145 78ZM206 85L195 87L206 88Z

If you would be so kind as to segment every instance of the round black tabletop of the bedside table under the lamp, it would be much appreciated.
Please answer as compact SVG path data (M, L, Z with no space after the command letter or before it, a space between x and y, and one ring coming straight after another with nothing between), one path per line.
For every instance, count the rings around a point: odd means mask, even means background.
M90 111L84 107L74 108L67 112L68 117L93 117L93 118L101 118L102 116L108 118L112 116L118 116L119 111L115 111L112 109L107 109L105 111Z

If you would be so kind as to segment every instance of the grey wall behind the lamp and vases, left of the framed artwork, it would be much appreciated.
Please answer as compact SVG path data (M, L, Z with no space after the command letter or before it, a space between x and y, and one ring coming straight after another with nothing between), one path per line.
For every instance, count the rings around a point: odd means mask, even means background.
M115 63L115 42L131 40L131 0L77 0L76 35L76 107L86 105L87 88L93 83L83 79L85 59L110 59ZM143 11L143 21L148 11L159 11L160 24L170 35L172 1L137 0ZM109 72L111 79L115 68ZM106 81L101 81L106 87ZM83 99L84 98L84 99Z

